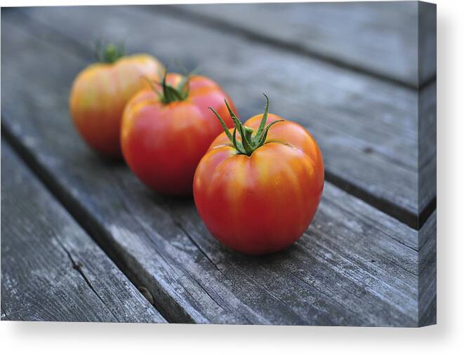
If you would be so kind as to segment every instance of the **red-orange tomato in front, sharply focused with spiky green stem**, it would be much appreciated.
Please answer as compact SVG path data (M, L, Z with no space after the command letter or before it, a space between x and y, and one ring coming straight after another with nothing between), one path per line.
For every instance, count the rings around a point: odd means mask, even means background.
M244 126L231 109L234 130L213 141L194 175L194 201L208 231L252 255L294 243L310 225L324 187L314 138L298 123L267 114L268 105Z

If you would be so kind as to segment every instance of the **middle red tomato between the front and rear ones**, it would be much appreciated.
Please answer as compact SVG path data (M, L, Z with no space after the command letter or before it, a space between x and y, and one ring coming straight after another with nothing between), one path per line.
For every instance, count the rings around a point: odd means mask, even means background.
M133 173L157 192L191 195L195 168L223 129L208 106L225 114L225 99L211 79L175 73L137 93L121 128L122 152ZM232 127L232 120L225 125Z

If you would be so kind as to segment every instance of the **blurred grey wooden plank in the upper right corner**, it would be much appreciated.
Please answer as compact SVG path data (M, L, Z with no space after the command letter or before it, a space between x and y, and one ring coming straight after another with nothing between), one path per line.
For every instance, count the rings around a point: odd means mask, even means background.
M218 29L417 88L436 74L435 4L415 1L178 5ZM436 20L436 18L435 18ZM423 61L418 65L418 25ZM430 59L427 59L430 58Z

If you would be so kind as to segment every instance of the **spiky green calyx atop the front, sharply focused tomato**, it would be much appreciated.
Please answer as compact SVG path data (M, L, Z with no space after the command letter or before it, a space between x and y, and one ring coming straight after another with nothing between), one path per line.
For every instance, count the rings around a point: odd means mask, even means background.
M235 149L237 149L237 152L239 154L246 154L248 156L251 156L251 154L264 145L266 138L267 138L267 132L269 131L269 128L271 128L272 125L274 125L277 122L284 121L283 119L279 119L278 121L273 121L269 123L266 126L266 121L267 121L267 113L269 112L269 99L265 94L263 94L266 98L266 106L264 109L263 113L263 118L260 121L260 125L258 127L258 130L253 130L253 128L244 126L239 119L237 118L237 115L234 114L232 109L230 108L229 104L227 103L227 100L224 100L225 105L227 106L227 109L229 110L230 118L234 122L234 131L231 134L229 131L229 128L224 123L224 120L219 116L218 112L216 112L213 107L208 107L211 109L211 111L218 117L220 124L224 128L224 132L227 135L227 138L230 139L230 142L232 142L232 145L234 146ZM237 140L237 131L240 134L241 140Z

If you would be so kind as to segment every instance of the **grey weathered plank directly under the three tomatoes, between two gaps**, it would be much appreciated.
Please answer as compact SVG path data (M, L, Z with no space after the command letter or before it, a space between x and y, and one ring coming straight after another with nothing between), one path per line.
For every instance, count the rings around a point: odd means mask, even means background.
M67 112L84 60L19 23L2 18L2 131L168 321L418 325L415 230L326 183L296 245L266 257L233 253L206 232L191 200L150 192L84 145Z

